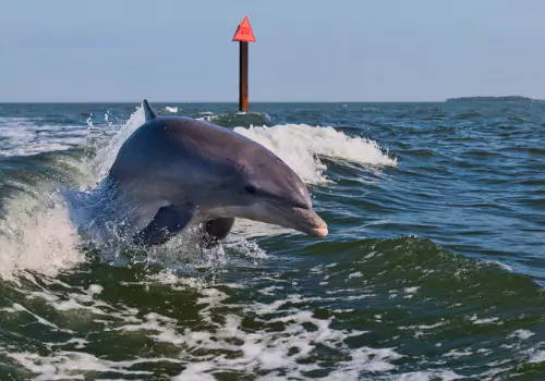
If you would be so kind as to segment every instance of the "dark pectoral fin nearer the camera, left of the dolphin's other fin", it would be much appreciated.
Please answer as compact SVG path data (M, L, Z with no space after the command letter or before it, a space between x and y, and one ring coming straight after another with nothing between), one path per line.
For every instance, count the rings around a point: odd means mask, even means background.
M194 213L174 207L162 207L155 218L140 233L133 236L133 242L142 246L161 245L180 233L191 221Z

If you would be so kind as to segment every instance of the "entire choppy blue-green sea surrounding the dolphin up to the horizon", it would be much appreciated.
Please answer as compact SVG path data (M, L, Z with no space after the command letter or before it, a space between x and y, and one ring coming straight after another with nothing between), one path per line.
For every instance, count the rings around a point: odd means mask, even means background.
M320 241L86 250L137 105L0 105L1 380L545 379L545 105L159 105L261 142Z

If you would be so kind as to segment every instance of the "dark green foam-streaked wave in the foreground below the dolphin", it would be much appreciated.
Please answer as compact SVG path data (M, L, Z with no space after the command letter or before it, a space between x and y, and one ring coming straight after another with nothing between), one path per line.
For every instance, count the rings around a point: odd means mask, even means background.
M334 245L311 245L307 255L319 258ZM24 332L16 323L23 319L40 330L21 336L24 351L0 346L0 357L27 378L210 380L220 373L492 379L542 360L544 306L530 279L419 237L360 239L335 249L337 261L308 267L304 276L272 259L242 269L226 265L231 271L206 282L94 263L81 270L99 284L71 274L28 275L4 290L10 302L0 317L14 336ZM259 275L267 268L275 271ZM524 305L531 307L524 325L532 329L519 324L516 311ZM483 332L494 332L495 341ZM441 345L429 348L429 342ZM98 355L97 346L116 343L131 345ZM501 366L479 361L492 353Z

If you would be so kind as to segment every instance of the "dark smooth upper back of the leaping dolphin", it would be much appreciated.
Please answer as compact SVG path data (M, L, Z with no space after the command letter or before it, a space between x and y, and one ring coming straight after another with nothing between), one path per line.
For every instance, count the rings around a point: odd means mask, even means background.
M240 171L249 162L270 160L281 162L258 143L231 130L184 116L162 116L147 121L126 139L110 176L134 177L143 169L160 171L180 163L201 167L205 172Z

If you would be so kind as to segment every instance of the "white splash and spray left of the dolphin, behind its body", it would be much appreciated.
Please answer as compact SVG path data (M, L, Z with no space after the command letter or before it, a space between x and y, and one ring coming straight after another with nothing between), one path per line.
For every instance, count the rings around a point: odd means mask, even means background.
M108 116L105 116L107 120ZM31 123L26 121L27 123ZM51 175L36 182L32 177L20 181L4 180L1 184L16 186L22 192L10 199L3 199L5 218L0 220L0 276L11 279L25 271L36 271L47 275L56 275L60 271L70 269L85 260L81 250L82 237L77 224L73 220L73 210L65 198L66 177L85 188L94 185L104 177L116 159L116 155L123 142L144 122L144 112L138 107L125 125L99 149L89 160L65 158L56 159L49 165L55 171L64 171L61 176ZM88 128L94 128L88 122ZM111 125L110 125L111 126ZM34 128L29 124L28 128ZM82 138L77 144L89 139ZM31 147L32 148L32 147ZM50 149L50 143L41 143L37 151ZM61 147L66 148L64 145ZM35 149L25 148L25 155L35 153ZM19 155L19 150L14 150ZM12 152L10 152L12 153ZM45 165L37 160L36 164ZM70 175L69 175L70 172ZM57 180L56 180L57 177ZM62 179L58 179L62 177Z

